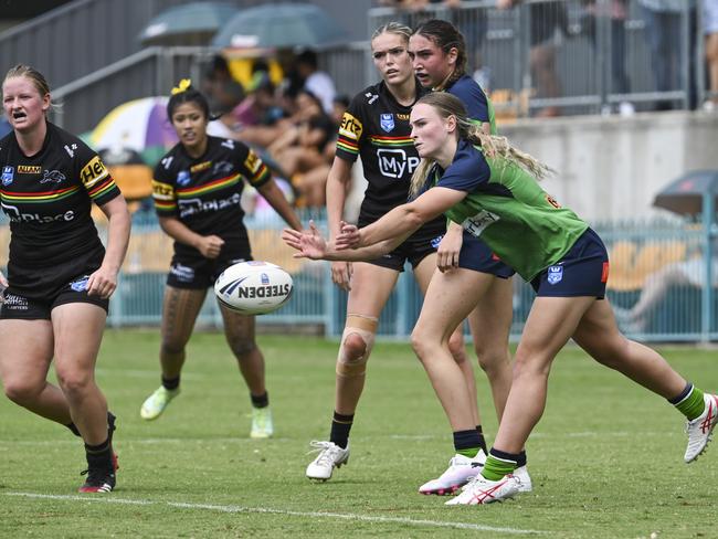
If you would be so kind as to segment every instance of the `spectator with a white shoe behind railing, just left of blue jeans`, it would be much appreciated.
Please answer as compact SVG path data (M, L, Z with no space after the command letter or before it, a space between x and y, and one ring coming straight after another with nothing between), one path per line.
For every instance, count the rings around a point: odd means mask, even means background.
M585 31L593 47L596 47L596 18L610 19L610 34L608 45L611 49L611 78L610 93L627 94L630 92L629 75L625 70L625 21L629 15L629 0L584 0L589 19L585 20ZM599 40L601 43L601 40ZM619 105L621 116L631 116L635 108L629 102Z

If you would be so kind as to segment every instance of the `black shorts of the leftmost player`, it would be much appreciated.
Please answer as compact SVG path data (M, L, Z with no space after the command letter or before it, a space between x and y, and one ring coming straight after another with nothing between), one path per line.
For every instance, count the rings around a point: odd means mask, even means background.
M89 274L80 275L66 283L57 293L45 298L27 297L13 292L12 284L6 289L0 309L0 320L50 320L52 309L71 303L88 303L109 309L109 299L87 294L85 286Z

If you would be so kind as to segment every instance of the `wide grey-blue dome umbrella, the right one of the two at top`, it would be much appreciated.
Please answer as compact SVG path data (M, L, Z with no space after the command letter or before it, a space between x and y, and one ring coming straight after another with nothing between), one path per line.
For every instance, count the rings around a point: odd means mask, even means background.
M346 41L326 11L310 3L271 3L237 12L212 40L214 46L318 46Z

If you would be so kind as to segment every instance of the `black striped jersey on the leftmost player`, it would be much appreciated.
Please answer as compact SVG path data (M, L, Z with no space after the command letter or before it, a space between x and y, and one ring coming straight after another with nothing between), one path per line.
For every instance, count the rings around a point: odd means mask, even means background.
M2 211L10 219L11 286L38 297L50 283L60 285L64 277L98 267L105 251L89 216L91 202L102 205L119 189L97 154L47 123L34 156L22 152L14 133L0 140L0 169Z

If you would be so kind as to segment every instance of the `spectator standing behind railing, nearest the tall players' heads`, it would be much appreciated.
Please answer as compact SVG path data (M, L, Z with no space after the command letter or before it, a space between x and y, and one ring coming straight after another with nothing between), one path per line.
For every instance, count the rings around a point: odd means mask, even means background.
M521 3L521 0L496 0L498 9L511 9ZM556 39L557 30L568 35L568 13L566 2L551 0L541 3L530 3L530 52L529 63L531 77L538 86L540 97L559 97L561 85L556 73ZM537 116L558 116L558 107L547 107L540 110Z

